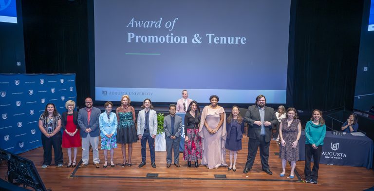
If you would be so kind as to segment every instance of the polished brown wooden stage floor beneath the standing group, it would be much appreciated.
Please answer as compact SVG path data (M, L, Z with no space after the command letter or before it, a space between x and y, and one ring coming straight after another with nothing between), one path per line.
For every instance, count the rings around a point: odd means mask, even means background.
M138 168L141 162L140 142L133 144L132 166L122 168L122 153L120 146L115 149L114 168L102 167L104 154L99 150L100 168L95 168L90 153L90 165L84 169L66 168L67 152L64 152L64 167L54 165L42 169L43 149L37 148L26 153L19 154L34 161L37 171L41 176L45 187L52 191L127 191L127 190L329 190L329 191L362 191L374 187L374 171L364 167L334 166L321 164L319 168L318 184L305 183L304 161L298 161L294 179L289 176L290 165L287 164L286 176L280 177L281 160L278 157L279 145L271 141L269 165L273 175L262 172L259 153L252 170L244 174L243 167L247 157L248 137L243 138L243 150L239 151L237 159L237 171L227 171L226 167L209 170L205 166L199 168L187 168L187 162L182 160L180 153L180 168L171 165L166 168L166 152L156 152L157 168L150 165L150 155L147 151L147 165ZM148 145L147 145L148 147ZM78 149L79 161L81 149ZM229 163L228 153L226 161ZM52 160L53 161L53 160ZM109 163L110 165L110 163ZM0 177L6 177L6 162L0 165ZM147 177L157 174L157 177ZM225 175L225 178L216 177Z

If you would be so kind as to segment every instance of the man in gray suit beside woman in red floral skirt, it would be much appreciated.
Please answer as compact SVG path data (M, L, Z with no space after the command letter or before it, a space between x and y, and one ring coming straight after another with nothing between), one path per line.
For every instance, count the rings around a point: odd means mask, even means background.
M166 139L166 167L171 166L172 150L174 148L174 165L179 166L179 141L181 140L182 117L175 115L177 106L169 105L170 115L164 118L164 131Z

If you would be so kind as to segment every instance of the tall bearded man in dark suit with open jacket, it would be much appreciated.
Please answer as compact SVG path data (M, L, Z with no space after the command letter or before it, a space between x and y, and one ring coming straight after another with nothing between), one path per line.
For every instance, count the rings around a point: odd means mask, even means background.
M256 104L249 106L244 115L248 123L248 156L243 173L248 173L255 161L257 150L260 146L262 171L273 174L269 168L269 147L272 125L277 123L274 109L265 106L266 98L263 95L256 97Z

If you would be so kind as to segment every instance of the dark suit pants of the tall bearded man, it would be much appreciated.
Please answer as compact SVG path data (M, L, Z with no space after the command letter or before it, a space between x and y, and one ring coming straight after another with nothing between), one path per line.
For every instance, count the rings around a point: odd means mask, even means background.
M245 167L248 169L252 169L259 146L260 146L260 157L261 157L262 170L268 170L269 169L268 161L269 161L270 142L265 142L265 136L260 136L260 139L250 138L248 140L248 156L247 156L247 162L245 163Z

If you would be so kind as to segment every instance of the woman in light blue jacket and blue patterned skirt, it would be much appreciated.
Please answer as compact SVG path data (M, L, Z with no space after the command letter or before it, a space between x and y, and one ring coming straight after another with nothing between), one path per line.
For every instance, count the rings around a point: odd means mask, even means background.
M108 151L111 151L111 167L114 167L113 155L114 149L117 148L117 116L112 112L112 102L107 101L104 104L105 112L100 114L100 136L101 136L101 150L104 150L104 168L108 166Z

